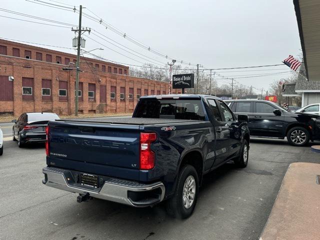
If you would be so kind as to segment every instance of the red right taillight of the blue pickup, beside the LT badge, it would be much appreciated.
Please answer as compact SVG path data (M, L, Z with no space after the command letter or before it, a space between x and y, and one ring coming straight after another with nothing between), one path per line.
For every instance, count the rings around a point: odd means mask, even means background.
M156 133L140 133L140 169L148 170L154 167L154 152L150 149L151 142L156 140Z

